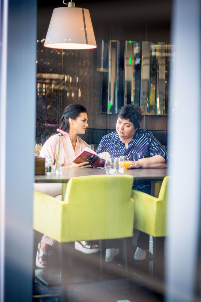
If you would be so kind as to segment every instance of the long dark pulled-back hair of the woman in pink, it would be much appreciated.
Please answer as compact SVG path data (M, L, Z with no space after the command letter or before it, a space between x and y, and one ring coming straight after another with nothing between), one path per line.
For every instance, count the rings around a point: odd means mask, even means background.
M72 118L75 120L82 112L86 112L86 114L87 114L87 110L84 106L82 106L80 104L68 105L64 109L63 115L61 117L59 129L64 130L65 132L68 132L70 129L70 126L68 123L69 118Z

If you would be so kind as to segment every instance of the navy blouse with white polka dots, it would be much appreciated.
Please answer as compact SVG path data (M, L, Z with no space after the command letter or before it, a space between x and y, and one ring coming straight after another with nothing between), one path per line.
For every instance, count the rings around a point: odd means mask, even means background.
M125 144L119 139L117 131L105 135L96 150L96 153L109 152L111 158L127 155L129 160L138 160L145 157L152 157L154 155L161 155L165 162L169 165L170 154L147 130L139 129L133 136L128 148L125 150ZM150 181L134 181L133 189L140 190L150 186Z

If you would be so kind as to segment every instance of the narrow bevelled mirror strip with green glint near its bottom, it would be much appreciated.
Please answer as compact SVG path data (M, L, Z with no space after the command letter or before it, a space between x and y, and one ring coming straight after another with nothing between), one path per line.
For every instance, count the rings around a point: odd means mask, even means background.
M107 113L117 113L119 86L119 52L120 42L109 41L109 72L108 72L108 108Z

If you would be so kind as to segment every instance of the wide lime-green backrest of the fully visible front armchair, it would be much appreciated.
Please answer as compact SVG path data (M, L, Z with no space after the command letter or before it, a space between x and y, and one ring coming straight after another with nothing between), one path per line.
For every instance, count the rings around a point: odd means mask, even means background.
M62 211L61 242L132 236L133 176L71 178Z

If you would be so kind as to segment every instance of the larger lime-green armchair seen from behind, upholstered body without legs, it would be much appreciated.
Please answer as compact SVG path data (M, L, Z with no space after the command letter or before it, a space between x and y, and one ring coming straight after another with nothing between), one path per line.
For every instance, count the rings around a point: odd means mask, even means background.
M58 242L133 235L133 176L71 178L64 201L34 191L33 228Z

